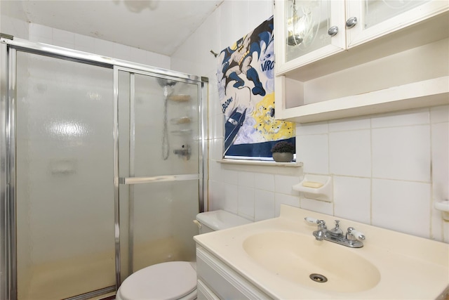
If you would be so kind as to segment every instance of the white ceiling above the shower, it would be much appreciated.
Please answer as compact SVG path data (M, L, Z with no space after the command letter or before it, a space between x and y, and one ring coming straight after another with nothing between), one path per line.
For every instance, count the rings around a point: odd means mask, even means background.
M0 0L2 13L171 56L223 0Z

